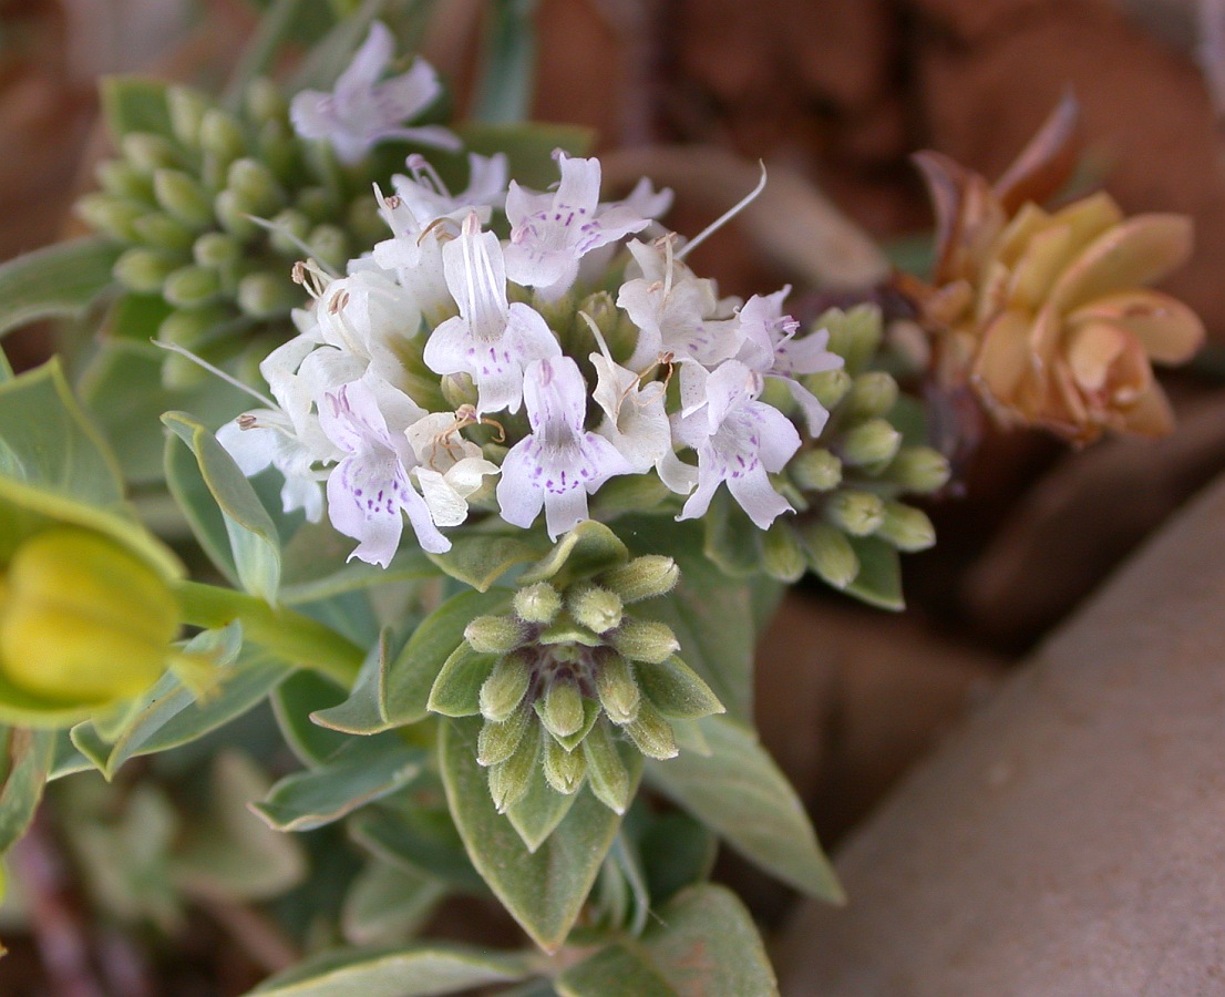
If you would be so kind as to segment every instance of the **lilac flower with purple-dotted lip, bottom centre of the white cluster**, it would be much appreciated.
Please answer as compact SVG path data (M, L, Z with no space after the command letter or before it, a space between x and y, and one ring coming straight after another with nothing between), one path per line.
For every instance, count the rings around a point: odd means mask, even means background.
M532 434L502 461L497 503L502 518L530 527L544 507L550 539L587 518L587 496L609 478L628 474L628 462L603 436L583 430L587 385L568 356L528 365L523 399Z

